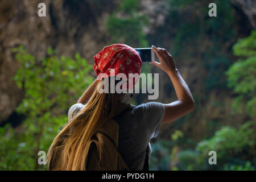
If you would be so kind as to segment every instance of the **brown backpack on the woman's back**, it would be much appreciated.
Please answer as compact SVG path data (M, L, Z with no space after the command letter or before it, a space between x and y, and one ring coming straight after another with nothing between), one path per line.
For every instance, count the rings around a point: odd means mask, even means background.
M133 106L135 107L135 106ZM129 107L123 110L118 115L125 113L127 110L133 109ZM117 118L116 115L114 118ZM97 144L102 148L101 162L98 157ZM121 154L118 151L118 123L114 119L109 119L104 126L101 127L92 137L89 143L89 151L85 159L85 169L88 171L129 171ZM128 146L127 146L128 147ZM149 146L146 150L146 158L144 161L143 171L148 171L148 152Z

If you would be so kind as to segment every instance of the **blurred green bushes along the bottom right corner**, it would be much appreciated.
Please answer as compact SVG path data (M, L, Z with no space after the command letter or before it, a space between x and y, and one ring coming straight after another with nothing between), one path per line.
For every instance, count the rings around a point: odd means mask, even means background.
M172 140L152 143L150 169L154 170L254 170L253 127L251 122L238 128L222 127L213 137L201 140L195 149L181 150L182 133L177 130ZM183 141L184 144L184 141ZM217 165L210 165L209 151L216 151ZM167 158L167 156L170 156Z

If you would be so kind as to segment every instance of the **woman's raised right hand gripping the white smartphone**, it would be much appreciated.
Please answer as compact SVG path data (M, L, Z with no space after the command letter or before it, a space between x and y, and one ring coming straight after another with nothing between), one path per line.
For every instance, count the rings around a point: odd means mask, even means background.
M156 61L151 62L152 65L162 69L167 74L175 71L176 65L174 59L172 59L172 55L166 49L160 47L156 48L155 46L152 46L152 49L160 61L160 63Z

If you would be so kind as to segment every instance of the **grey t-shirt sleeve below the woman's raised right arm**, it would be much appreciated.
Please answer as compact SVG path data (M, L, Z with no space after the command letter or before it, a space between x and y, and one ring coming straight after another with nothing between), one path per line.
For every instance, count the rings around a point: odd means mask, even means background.
M143 107L147 131L150 132L150 139L152 139L158 135L165 113L165 107L160 102L147 102L143 104Z

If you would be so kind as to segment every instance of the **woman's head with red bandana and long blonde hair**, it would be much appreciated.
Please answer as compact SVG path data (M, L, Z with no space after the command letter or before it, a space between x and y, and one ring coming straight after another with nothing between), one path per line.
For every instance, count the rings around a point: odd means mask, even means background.
M86 106L63 127L53 140L48 151L48 164L50 170L84 170L85 155L89 150L89 142L93 134L101 128L109 118L114 117L117 101L122 100L123 94L98 92L102 82L115 78L118 73L129 76L129 73L141 72L142 61L135 49L125 44L112 44L94 56L94 70L98 76L98 83ZM114 70L114 74L113 74ZM101 77L100 77L101 76ZM123 78L125 79L125 78ZM110 78L111 80L111 78ZM135 79L136 80L136 79ZM134 80L133 80L134 81ZM114 86L118 80L114 79ZM127 85L129 80L127 79ZM135 82L132 84L134 88ZM128 88L129 86L127 86ZM101 148L97 146L100 157Z

